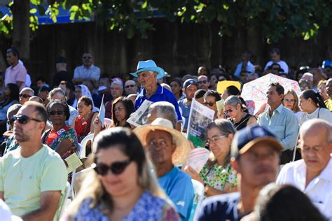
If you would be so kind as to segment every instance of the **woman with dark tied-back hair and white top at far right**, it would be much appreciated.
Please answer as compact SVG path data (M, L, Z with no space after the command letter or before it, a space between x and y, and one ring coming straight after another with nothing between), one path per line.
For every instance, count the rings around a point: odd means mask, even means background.
M319 92L314 90L304 90L299 99L300 109L303 111L298 122L302 125L310 119L319 118L332 123L332 113L326 108L324 100Z

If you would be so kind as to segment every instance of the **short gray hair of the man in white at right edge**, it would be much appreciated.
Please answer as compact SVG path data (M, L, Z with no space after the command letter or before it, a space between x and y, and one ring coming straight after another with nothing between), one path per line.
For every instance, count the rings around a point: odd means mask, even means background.
M304 134L308 131L326 131L326 142L332 143L332 124L326 120L312 119L304 122L300 127L300 138L303 139Z

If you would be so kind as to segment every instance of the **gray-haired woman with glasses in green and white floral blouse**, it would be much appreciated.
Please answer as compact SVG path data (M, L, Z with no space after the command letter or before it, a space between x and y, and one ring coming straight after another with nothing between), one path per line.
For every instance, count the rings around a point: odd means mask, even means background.
M207 144L212 152L209 160L200 173L185 166L184 171L205 186L207 197L237 191L236 173L230 166L230 145L234 134L233 124L228 120L218 119L210 123L207 126Z

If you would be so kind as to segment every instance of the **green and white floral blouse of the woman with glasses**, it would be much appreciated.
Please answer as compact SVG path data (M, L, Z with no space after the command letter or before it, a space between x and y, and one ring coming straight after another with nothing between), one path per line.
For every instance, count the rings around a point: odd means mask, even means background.
M200 171L200 177L210 187L216 190L223 190L226 183L233 184L230 190L232 190L237 183L236 173L230 164L226 166L219 166L217 163L209 166L205 164Z

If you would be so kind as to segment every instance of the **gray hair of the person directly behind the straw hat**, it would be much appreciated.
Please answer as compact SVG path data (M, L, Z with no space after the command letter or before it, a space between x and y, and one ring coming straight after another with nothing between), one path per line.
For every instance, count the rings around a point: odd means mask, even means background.
M172 122L173 127L175 128L177 125L177 112L175 111L174 105L167 101L158 101L148 108L148 114L152 112L152 110L156 110L157 117L162 117Z

